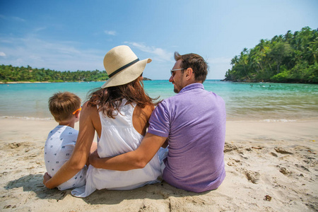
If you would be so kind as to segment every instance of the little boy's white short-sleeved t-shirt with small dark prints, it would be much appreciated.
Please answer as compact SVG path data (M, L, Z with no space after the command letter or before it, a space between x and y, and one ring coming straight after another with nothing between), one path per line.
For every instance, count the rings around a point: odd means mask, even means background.
M78 130L65 125L59 125L49 132L45 142L45 167L50 177L53 177L71 157L77 136ZM57 188L62 191L82 187L86 183L86 170L87 167L83 167L75 176L60 184Z

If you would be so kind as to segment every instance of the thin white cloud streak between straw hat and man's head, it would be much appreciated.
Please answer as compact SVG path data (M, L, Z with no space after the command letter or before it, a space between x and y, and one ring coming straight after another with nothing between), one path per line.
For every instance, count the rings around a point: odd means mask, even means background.
M154 54L155 59L158 59L159 61L172 61L171 58L173 54L165 51L165 49L161 49L158 47L149 47L144 45L143 43L138 43L138 42L124 42L124 43L131 45L133 47L136 47L142 52Z

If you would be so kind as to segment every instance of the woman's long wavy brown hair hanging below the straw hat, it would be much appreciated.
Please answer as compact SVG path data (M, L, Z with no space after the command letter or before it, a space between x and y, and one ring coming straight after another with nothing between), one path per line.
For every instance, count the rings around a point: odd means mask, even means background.
M124 84L122 86L114 86L108 88L100 88L90 93L88 105L97 106L98 112L102 112L114 119L114 110L119 111L119 106L122 104L122 100L126 99L129 104L135 102L137 106L144 108L146 105L155 106L158 102L158 98L150 98L145 90L143 90L143 81L141 78Z

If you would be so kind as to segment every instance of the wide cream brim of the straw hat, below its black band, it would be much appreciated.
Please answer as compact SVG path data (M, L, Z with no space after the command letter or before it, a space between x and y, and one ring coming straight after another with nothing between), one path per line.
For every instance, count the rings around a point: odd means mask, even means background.
M143 73L143 70L146 68L146 64L150 62L150 58L136 62L136 64L123 69L119 73L116 73L114 76L107 79L107 81L104 83L104 85L102 85L101 88L121 86L134 81L136 78L141 76L141 73Z

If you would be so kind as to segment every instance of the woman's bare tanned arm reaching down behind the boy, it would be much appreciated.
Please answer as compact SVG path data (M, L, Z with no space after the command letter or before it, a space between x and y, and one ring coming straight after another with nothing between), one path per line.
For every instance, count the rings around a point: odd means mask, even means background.
M88 107L87 102L83 105L79 121L78 138L71 158L62 165L51 179L44 177L43 184L45 184L45 187L53 189L59 186L71 179L71 177L76 175L76 173L84 167L88 160L90 147L92 146L95 135L95 127L91 117L92 114L95 115L96 112L97 109L95 107Z

